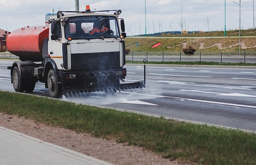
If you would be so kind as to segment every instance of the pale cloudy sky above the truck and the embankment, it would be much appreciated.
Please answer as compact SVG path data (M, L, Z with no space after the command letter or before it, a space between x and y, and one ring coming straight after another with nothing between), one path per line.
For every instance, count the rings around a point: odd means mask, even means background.
M86 5L90 5L91 11L121 9L119 18L124 18L128 36L145 34L145 29L146 34L182 29L224 31L225 25L228 31L239 29L239 22L241 30L255 27L254 0L241 0L240 5L239 0L234 2L233 0L79 0L79 10L84 11ZM1 0L0 29L13 31L26 26L45 25L45 14L51 13L52 9L54 13L58 10L75 11L75 0Z

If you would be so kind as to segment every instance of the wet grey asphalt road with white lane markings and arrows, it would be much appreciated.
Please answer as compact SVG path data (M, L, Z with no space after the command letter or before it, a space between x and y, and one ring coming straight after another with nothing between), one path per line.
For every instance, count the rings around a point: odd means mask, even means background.
M7 70L11 64L0 61L1 90L14 91ZM126 68L126 83L144 80L143 65ZM36 84L32 94L49 96L42 83ZM142 90L113 96L73 93L62 99L256 132L255 67L147 65Z

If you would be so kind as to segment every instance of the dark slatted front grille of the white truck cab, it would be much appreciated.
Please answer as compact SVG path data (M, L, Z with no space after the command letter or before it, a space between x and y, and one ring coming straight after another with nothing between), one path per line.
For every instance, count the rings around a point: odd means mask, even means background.
M119 51L90 54L71 54L72 70L101 71L117 69L120 67L119 62Z

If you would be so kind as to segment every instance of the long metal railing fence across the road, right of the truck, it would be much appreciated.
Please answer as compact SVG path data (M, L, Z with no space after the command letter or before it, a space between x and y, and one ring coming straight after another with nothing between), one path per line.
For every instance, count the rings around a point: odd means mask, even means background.
M194 52L194 54L184 54L183 52L130 52L126 54L126 60L142 61L146 59L151 62L243 62L256 63L256 52Z

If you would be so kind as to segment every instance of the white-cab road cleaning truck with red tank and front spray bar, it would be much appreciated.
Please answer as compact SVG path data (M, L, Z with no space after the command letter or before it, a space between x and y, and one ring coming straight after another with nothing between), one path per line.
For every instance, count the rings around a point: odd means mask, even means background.
M73 91L113 94L146 87L145 70L144 80L124 83L126 33L120 13L92 12L89 6L86 11L58 11L48 25L9 33L7 49L20 59L9 67L15 91L31 92L38 81L54 98Z

